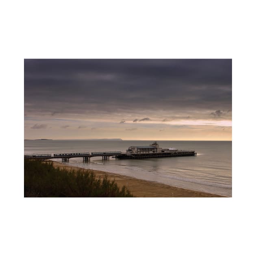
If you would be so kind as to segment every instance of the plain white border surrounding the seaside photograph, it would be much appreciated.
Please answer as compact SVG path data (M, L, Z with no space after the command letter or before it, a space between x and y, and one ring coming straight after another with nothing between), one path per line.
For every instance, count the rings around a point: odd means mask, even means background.
M250 86L255 80L255 15L250 3L3 4L2 154L8 156L2 158L1 250L5 254L247 255L255 251L248 233L255 228L250 200L254 154L243 153L254 149L255 107L249 102L254 102ZM233 198L24 198L24 58L232 58ZM20 157L14 159L9 152L20 152Z

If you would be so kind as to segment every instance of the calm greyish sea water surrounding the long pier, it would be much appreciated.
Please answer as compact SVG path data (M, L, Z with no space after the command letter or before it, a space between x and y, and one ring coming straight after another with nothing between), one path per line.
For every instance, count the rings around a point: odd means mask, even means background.
M24 141L24 154L126 151L129 146L153 141ZM89 163L71 158L66 165L151 180L185 189L232 196L232 141L158 141L161 148L194 149L197 156L137 160L102 160ZM55 161L61 162L61 159ZM127 184L129 187L129 184Z

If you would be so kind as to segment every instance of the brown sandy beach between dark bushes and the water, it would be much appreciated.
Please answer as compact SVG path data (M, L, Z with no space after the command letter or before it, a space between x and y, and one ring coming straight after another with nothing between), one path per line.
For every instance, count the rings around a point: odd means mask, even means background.
M121 188L125 185L135 197L226 197L222 195L215 195L201 191L182 189L179 187L173 187L154 181L141 180L129 176L124 176L121 174L109 173L106 171L98 171L80 167L67 166L63 163L59 163L56 161L50 162L53 163L54 167L60 167L60 169L84 169L93 171L93 173L96 175L96 178L103 178L103 176L107 175L109 179L115 179L118 187Z

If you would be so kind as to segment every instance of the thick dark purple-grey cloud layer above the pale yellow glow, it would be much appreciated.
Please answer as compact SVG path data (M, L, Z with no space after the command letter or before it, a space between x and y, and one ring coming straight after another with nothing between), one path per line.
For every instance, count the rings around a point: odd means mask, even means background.
M28 116L228 111L232 60L25 59L24 103Z

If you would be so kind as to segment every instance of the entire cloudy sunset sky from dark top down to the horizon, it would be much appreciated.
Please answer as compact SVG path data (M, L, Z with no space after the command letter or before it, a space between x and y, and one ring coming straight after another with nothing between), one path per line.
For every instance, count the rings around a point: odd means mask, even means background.
M232 140L231 59L24 59L24 139Z

